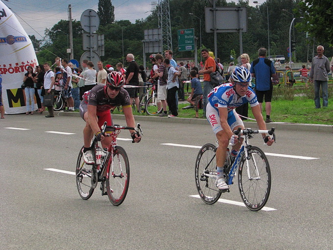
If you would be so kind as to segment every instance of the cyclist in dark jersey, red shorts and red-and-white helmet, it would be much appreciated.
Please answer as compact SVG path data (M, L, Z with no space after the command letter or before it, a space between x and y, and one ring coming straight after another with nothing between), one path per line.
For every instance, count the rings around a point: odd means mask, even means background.
M79 110L82 119L86 121L86 126L83 130L83 158L87 164L94 164L90 149L90 142L94 134L101 141L103 148L107 147L111 142L112 138L104 137L100 131L105 121L108 125L113 125L110 109L121 105L127 126L135 127L129 94L125 89L121 88L124 84L123 76L113 71L108 74L106 85L96 85L83 95ZM130 133L135 142L140 142L141 136L138 137L134 130L130 130Z

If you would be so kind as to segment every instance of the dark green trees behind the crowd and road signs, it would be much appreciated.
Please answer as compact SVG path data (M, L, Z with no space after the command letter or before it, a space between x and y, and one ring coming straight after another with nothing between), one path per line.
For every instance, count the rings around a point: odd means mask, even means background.
M306 0L311 1L311 0ZM323 2L330 2L330 0L323 0ZM267 32L267 7L268 7L268 20L269 20L269 40L270 40L270 54L277 55L283 54L287 58L287 47L289 45L289 26L293 17L295 17L295 27L292 29L292 40L296 41L296 57L293 62L307 62L311 61L315 47L324 45L325 55L331 57L333 49L329 45L332 44L332 34L325 33L325 27L318 26L314 29L315 23L309 26L309 20L317 19L320 24L325 22L322 12L311 12L307 10L307 16L304 16L307 5L305 1L301 0L266 0L263 4L255 7L249 6L248 1L239 0L236 2L226 2L226 0L218 0L216 6L246 6L248 17L247 32L242 34L242 47L243 53L250 56L251 61L258 57L257 51L260 47L268 48L268 32ZM323 4L326 9L333 11L333 7ZM174 58L194 58L194 51L180 52L177 49L177 30L194 28L195 36L199 37L201 19L201 32L202 32L202 45L214 51L214 34L205 32L205 6L210 6L208 0L169 0L170 8L170 22ZM316 8L317 9L317 8ZM108 64L115 65L122 62L122 42L124 46L124 56L128 53L135 55L139 64L143 64L143 32L145 29L152 29L158 27L158 11L152 10L151 14L141 20L136 20L131 23L128 20L115 21L114 7L111 0L99 0L98 12L100 16L100 26L97 33L104 34L105 38L105 55L101 60ZM190 15L193 13L198 18ZM310 15L309 15L310 13ZM331 15L333 16L333 15ZM307 22L305 22L307 20ZM331 20L331 21L330 21ZM319 22L318 21L318 22ZM305 23L304 23L305 22ZM332 32L332 17L326 21L328 32ZM309 29L311 27L311 29ZM34 36L30 36L35 48L39 50L37 58L39 62L52 62L54 54L62 58L67 58L66 48L68 47L67 35L57 30L62 30L69 33L69 22L60 20L54 24L52 28L45 30L47 42L37 40ZM74 45L74 59L80 60L82 53L82 33L79 21L72 21L73 29L73 45ZM320 32L320 29L322 31ZM306 31L311 30L307 34ZM315 31L316 32L315 32ZM325 35L327 34L327 35ZM312 35L312 37L311 37ZM313 37L314 36L314 37ZM123 37L123 41L122 41ZM331 39L331 40L330 40ZM197 43L199 46L199 43ZM224 65L228 65L231 61L231 53L239 56L239 34L238 33L217 33L217 51L218 57ZM148 56L148 54L147 54Z

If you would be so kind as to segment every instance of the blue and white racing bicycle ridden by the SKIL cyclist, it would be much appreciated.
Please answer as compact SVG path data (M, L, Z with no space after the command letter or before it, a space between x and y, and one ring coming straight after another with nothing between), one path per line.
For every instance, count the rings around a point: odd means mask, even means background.
M245 206L252 211L258 211L266 204L271 188L270 166L265 153L258 147L249 144L252 135L268 133L275 141L275 128L271 130L251 130L240 128L234 131L238 137L243 138L242 145L235 159L229 157L224 164L224 178L228 185L233 184L233 179L238 170L238 189ZM222 192L218 190L216 182L216 149L213 144L207 143L202 146L195 163L195 183L200 198L207 204L214 204L220 198Z

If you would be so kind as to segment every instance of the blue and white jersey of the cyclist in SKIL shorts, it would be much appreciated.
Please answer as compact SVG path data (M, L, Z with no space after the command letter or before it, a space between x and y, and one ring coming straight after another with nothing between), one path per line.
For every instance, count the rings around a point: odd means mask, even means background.
M226 83L215 87L208 94L208 100L217 111L217 108L220 107L227 108L228 112L230 112L247 102L250 103L251 107L259 105L257 95L250 87L247 88L245 96L238 98L238 94L234 90L232 83Z

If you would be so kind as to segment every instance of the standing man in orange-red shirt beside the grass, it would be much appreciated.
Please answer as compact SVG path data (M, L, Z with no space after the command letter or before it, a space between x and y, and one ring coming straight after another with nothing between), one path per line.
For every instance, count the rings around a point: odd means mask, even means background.
M216 70L215 61L213 57L209 55L207 48L201 50L202 58L205 59L205 68L199 70L199 74L204 74L204 94L202 100L204 103L203 111L204 117L206 117L206 106L208 103L207 95L213 90L213 84L211 83L211 73Z

